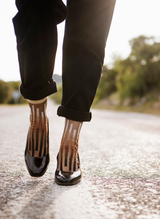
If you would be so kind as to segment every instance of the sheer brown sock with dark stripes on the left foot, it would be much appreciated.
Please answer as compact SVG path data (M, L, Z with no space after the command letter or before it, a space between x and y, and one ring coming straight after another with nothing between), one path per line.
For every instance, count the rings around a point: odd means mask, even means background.
M34 157L43 157L48 153L48 118L46 115L47 98L38 101L28 100L31 108L28 131L28 152Z

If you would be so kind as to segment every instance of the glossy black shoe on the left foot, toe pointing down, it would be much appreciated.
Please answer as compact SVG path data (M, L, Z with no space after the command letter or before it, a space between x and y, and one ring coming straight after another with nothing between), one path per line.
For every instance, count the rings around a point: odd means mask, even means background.
M49 122L47 120L47 132L46 132L46 141L45 143L47 145L45 145L45 148L43 149L43 154L45 154L44 156L34 156L34 149L32 148L32 155L30 155L28 148L30 147L29 142L31 144L34 144L34 140L33 138L30 139L30 135L28 132L28 136L27 136L27 144L26 144L26 149L25 149L25 163L27 166L27 170L29 172L29 174L33 177L39 177L39 176L43 176L44 173L46 172L47 168L48 168L48 164L50 161L50 156L49 156ZM43 141L43 138L41 138L41 140ZM39 141L37 140L37 144L36 144L36 148L38 148L38 144ZM40 154L42 154L42 147L44 147L43 143L41 142L40 146Z

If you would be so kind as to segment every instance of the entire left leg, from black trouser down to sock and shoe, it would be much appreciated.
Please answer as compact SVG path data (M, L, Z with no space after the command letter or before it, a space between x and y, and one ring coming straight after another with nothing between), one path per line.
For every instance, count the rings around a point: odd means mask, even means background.
M32 176L45 173L49 163L47 96L57 91L53 69L57 48L57 23L65 19L61 0L16 0L13 18L21 75L20 91L31 108L25 161Z

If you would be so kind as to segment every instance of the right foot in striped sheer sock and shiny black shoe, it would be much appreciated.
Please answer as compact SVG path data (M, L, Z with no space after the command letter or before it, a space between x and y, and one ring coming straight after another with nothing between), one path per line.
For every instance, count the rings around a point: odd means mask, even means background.
M59 185L74 185L81 180L82 172L78 154L81 127L82 122L66 119L55 172L55 182Z

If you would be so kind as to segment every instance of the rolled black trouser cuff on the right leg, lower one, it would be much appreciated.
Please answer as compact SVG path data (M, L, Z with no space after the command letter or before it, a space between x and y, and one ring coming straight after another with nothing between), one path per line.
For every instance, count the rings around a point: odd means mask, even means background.
M57 115L79 122L89 122L92 118L91 112L80 112L64 106L58 107Z

